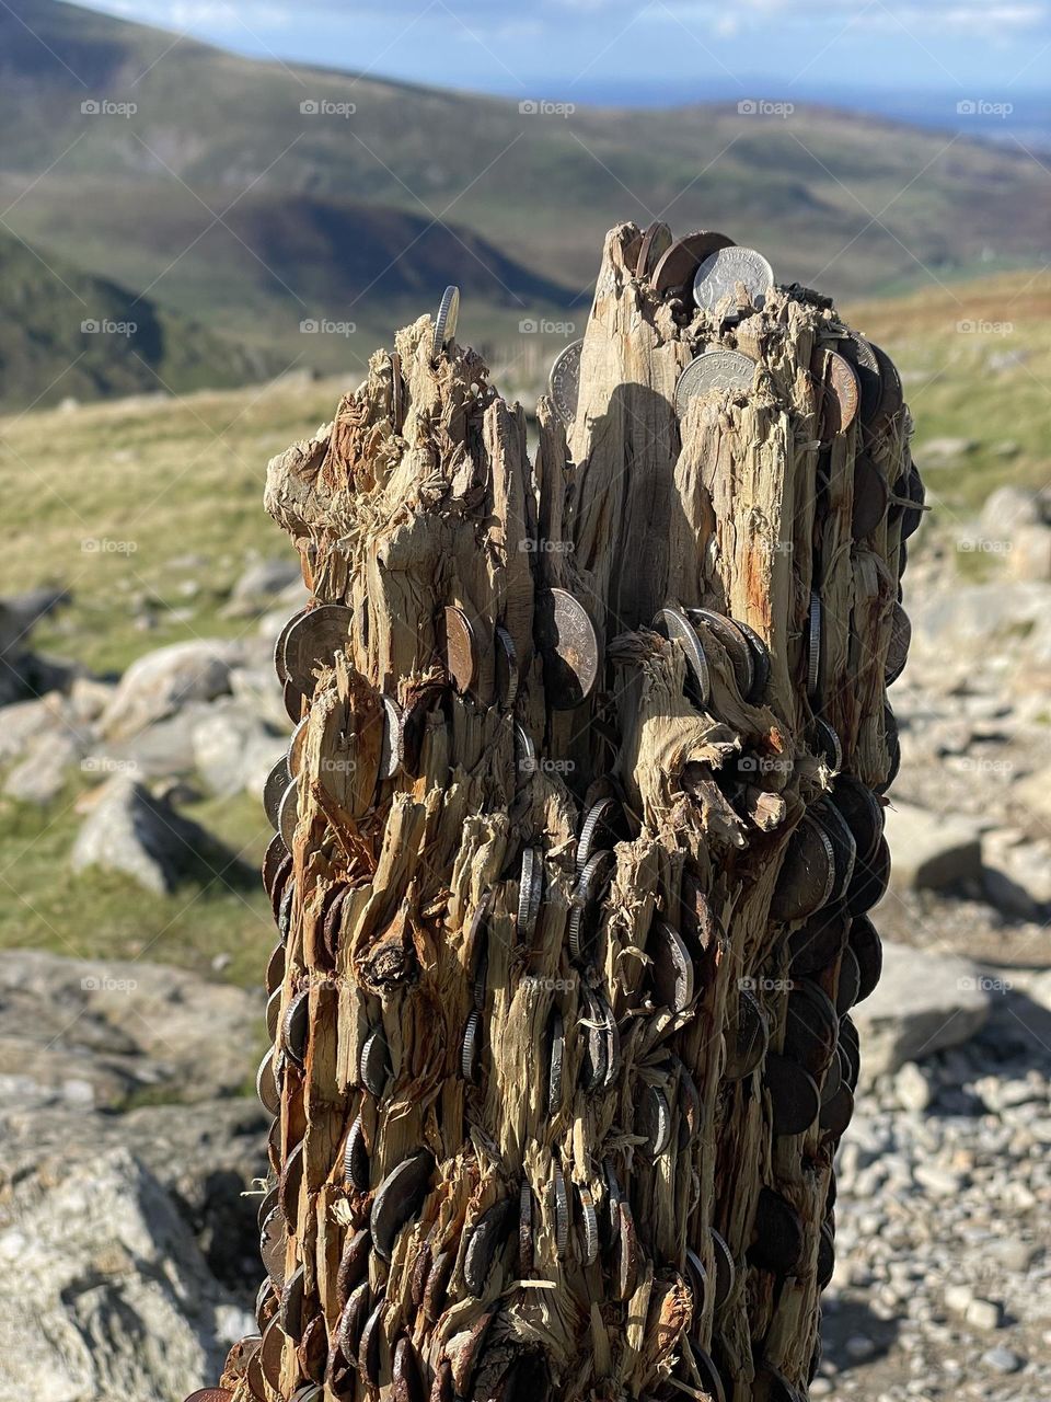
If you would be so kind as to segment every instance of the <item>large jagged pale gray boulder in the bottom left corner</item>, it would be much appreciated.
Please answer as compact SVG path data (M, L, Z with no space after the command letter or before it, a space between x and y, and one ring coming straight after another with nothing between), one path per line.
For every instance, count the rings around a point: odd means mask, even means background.
M71 1152L0 1207L0 1398L157 1398L214 1382L242 1316L126 1148Z

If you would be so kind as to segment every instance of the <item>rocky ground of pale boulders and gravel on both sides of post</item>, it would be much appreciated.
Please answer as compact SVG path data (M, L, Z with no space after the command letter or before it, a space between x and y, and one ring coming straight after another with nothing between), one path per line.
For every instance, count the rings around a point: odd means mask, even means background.
M1051 1398L1051 527L1040 499L998 496L970 534L925 529L907 575L886 970L856 1016L816 1398ZM8 805L49 812L73 777L64 859L128 892L202 864L254 880L184 808L258 794L282 753L269 652L301 597L287 562L256 562L237 641L111 679L32 651L59 592L7 600ZM242 1092L262 1037L258 990L0 953L0 1402L179 1402L214 1377L258 1283L265 1120Z

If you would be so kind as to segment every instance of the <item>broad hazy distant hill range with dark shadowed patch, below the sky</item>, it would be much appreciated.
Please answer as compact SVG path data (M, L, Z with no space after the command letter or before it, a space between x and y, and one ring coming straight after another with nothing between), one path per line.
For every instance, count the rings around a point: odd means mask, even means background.
M475 338L507 343L586 296L628 217L720 227L841 299L1038 265L1050 243L1045 171L1015 149L821 108L520 112L59 0L0 6L0 125L15 231L289 358L304 317L387 334L450 280ZM345 363L331 338L310 353Z

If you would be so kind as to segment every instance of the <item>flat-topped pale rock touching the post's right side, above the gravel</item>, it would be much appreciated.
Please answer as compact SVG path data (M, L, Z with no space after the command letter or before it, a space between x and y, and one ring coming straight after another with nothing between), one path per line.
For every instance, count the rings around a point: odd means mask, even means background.
M992 997L970 959L926 953L883 941L883 976L852 1009L866 1078L900 1071L944 1047L970 1040L985 1025Z

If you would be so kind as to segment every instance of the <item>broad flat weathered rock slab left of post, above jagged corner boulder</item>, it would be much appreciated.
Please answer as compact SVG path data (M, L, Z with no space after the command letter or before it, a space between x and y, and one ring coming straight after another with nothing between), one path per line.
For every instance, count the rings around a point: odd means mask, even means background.
M144 962L0 953L0 1109L233 1095L261 1040L262 998L242 988Z

